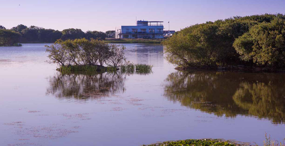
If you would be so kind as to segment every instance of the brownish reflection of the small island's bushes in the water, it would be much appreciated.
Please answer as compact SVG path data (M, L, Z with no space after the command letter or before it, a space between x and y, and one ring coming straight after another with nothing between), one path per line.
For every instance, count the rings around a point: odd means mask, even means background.
M119 72L73 73L57 72L50 77L47 94L60 99L89 100L125 91L126 75Z

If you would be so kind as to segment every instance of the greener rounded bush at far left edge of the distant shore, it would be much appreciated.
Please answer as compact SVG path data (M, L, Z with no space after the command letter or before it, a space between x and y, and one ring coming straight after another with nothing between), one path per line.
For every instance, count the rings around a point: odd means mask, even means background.
M18 32L0 29L0 46L15 46L19 42L20 37L21 34Z

